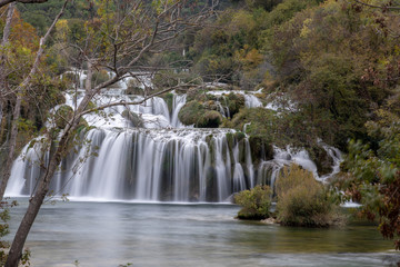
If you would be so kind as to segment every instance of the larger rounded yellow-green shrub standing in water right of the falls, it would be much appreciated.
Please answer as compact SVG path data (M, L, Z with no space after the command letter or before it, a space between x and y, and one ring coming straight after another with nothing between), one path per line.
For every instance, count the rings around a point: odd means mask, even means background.
M284 167L277 180L278 221L289 226L327 227L342 222L338 205L312 174Z

